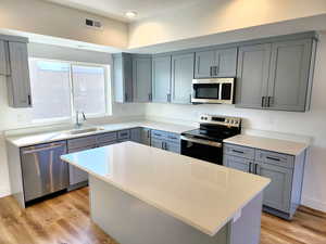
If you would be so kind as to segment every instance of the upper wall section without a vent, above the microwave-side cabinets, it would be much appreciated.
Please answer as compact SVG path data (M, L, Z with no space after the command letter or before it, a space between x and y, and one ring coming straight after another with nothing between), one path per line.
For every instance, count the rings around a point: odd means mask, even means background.
M325 0L202 0L129 26L129 48L326 13Z

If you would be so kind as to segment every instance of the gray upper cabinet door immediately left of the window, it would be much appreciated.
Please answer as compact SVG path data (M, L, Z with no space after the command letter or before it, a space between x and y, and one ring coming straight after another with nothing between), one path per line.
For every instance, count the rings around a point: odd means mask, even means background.
M9 42L11 76L8 77L9 104L12 107L30 107L30 80L27 44Z

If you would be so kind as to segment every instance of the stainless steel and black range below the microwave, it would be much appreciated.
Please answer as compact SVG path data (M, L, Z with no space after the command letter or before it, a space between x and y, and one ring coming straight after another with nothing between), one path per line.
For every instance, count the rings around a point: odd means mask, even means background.
M241 132L241 118L201 115L200 128L181 133L181 154L223 164L223 140Z

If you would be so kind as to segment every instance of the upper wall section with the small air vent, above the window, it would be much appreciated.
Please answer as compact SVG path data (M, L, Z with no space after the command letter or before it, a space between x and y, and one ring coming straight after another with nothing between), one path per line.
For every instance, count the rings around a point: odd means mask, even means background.
M40 0L1 0L0 28L47 35L96 44L126 48L126 23ZM101 21L103 28L86 27L85 18Z

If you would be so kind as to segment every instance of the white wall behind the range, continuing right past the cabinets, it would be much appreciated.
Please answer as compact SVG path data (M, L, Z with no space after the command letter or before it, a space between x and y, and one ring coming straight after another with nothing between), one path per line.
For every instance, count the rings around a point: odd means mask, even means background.
M202 113L240 116L246 129L267 130L312 137L311 156L305 168L303 204L326 211L326 35L318 43L312 107L308 113L235 108L234 105L147 104L147 117L184 121L198 120ZM158 113L159 112L159 113Z

